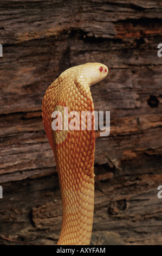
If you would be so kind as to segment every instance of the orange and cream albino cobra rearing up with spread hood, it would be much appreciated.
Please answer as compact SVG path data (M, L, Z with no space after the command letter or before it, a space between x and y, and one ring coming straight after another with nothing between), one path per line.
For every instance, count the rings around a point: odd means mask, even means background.
M80 126L77 130L54 131L52 113L60 111L63 115L64 107L68 107L68 113L77 111L81 121L82 111L94 111L90 86L107 74L107 66L101 63L74 66L64 71L43 97L44 130L53 149L63 205L57 245L90 244L94 213L95 120L92 115L91 130L87 129L86 120L86 130Z

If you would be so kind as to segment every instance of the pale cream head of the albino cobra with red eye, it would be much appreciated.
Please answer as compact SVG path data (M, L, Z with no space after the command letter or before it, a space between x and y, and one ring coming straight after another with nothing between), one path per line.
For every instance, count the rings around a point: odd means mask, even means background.
M86 63L80 65L80 78L86 79L89 86L101 81L108 74L108 68L101 63Z

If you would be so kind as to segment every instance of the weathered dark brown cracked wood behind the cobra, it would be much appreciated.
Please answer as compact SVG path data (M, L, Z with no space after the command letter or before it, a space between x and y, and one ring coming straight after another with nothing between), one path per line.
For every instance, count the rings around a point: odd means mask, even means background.
M42 99L62 71L101 62L109 74L91 92L111 133L96 132L92 244L161 245L161 1L4 0L0 43L0 243L56 244L61 195Z

